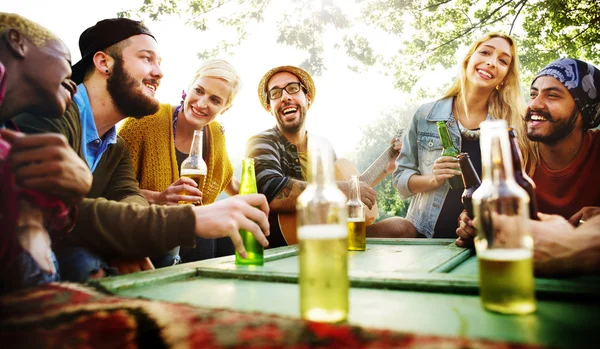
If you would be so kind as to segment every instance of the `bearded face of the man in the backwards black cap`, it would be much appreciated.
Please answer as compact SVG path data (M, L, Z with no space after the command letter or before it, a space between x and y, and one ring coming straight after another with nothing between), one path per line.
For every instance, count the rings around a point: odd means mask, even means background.
M119 54L112 54L112 71L106 81L107 90L124 115L143 117L158 111L154 97L163 73L160 69L160 51L156 41L148 35L135 35Z

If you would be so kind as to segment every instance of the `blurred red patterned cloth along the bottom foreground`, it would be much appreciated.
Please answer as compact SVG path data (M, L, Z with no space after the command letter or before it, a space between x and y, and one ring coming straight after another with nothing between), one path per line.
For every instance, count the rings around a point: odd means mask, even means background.
M47 284L0 298L3 348L539 348L329 325Z

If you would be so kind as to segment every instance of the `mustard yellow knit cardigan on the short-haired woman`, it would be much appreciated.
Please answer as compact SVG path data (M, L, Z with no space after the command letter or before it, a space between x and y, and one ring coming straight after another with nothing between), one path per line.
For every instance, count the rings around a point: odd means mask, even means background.
M171 127L173 107L161 104L159 111L142 119L129 118L121 129L121 136L131 153L131 162L141 189L163 191L179 179L179 168ZM233 177L233 167L227 155L225 135L221 125L213 121L205 132L210 143L202 190L202 202L212 203Z

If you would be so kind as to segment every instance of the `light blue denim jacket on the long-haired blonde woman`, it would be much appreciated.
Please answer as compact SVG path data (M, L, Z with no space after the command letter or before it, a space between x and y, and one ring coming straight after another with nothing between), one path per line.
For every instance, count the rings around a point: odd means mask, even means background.
M446 121L454 146L461 149L460 130L452 115L452 99L448 97L424 104L415 112L408 132L405 132L402 138L402 150L396 159L396 170L392 175L394 187L401 198L414 195L406 219L413 223L419 233L428 238L433 237L433 229L450 185L446 182L438 189L415 194L408 189L408 179L415 174L433 173L433 162L442 153L437 121Z

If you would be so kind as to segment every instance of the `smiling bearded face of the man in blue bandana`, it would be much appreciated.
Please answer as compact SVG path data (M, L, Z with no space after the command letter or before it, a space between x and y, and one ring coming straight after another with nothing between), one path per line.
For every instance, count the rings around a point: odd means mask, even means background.
M581 113L567 88L551 76L541 76L531 85L525 114L527 138L555 144L574 129L583 129Z

